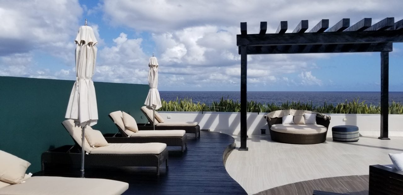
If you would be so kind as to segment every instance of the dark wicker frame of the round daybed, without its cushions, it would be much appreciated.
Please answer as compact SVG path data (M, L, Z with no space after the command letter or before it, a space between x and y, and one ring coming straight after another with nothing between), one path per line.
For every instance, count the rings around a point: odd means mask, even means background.
M282 118L269 118L266 117L267 124L270 129L270 137L273 141L283 142L288 144L318 144L326 141L327 129L329 128L330 120L324 120L324 118L316 117L316 124L326 127L326 132L318 134L291 134L282 133L271 130L271 126L274 124L281 124Z

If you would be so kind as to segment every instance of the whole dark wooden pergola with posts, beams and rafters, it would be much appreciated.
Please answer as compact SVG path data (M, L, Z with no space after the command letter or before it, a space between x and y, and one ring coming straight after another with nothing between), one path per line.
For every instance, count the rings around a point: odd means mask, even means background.
M266 34L267 22L260 22L258 34L247 34L246 22L241 22L241 35L237 35L237 46L241 55L241 146L239 150L248 150L246 147L246 81L247 55L251 54L380 52L379 139L389 140L389 52L392 51L393 43L403 42L403 20L395 23L395 18L385 18L374 25L371 23L372 18L364 18L350 26L350 19L343 18L329 28L329 20L323 19L305 33L308 29L308 20L301 20L292 33L285 33L288 24L287 21L281 21L276 33Z

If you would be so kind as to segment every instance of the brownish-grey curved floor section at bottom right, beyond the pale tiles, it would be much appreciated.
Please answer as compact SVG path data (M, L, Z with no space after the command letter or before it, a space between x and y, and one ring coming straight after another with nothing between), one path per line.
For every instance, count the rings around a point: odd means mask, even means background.
M368 195L368 175L328 177L274 187L258 195L312 195L314 190L349 195Z

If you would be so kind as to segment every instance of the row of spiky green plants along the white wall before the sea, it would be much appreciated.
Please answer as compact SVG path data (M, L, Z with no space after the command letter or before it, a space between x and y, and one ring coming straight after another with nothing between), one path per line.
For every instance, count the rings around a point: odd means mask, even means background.
M247 102L247 112L272 112L275 110L311 110L320 113L328 114L380 114L380 105L367 105L365 101L359 102L359 98L351 102L339 103L337 105L327 104L314 105L312 102L294 102L287 101L281 104L265 104L257 103L256 101ZM220 101L212 102L212 104L194 103L191 98L178 99L176 101L166 102L162 100L160 111L194 111L194 112L240 112L241 103L237 100L234 102L231 99L221 98ZM389 114L403 114L403 105L400 102L392 102L389 104Z

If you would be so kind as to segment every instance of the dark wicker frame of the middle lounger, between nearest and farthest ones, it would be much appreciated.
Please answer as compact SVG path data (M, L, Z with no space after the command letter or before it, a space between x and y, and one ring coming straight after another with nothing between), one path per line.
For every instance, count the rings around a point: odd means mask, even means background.
M181 146L183 152L183 146L187 148L187 136L186 134L182 137L128 137L127 134L119 127L118 124L113 120L112 116L108 115L109 118L115 123L120 134L109 136L106 134L105 139L108 143L164 143L167 146ZM139 130L150 130L147 126L137 126ZM152 129L151 129L152 130ZM159 129L157 129L159 130Z

